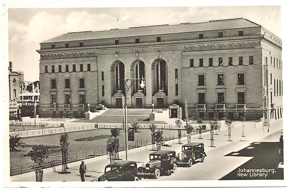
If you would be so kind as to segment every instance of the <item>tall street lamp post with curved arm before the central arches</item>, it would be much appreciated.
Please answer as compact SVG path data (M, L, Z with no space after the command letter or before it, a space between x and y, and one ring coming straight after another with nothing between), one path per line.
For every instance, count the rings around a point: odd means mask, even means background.
M132 87L132 85L137 81L137 80L141 80L141 84L140 87L144 88L145 84L144 84L144 78L142 76L142 78L128 78L127 74L126 74L126 69L125 69L125 93L124 93L124 97L125 97L125 138L126 138L126 160L128 160L128 120L127 120L127 100L129 99L128 97L128 92L130 90L130 88Z

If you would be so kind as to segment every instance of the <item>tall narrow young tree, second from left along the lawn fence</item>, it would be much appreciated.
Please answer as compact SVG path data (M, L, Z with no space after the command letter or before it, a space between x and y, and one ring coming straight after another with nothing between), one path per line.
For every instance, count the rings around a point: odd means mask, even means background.
M67 153L68 153L68 146L69 146L69 134L68 133L62 133L60 136L60 145L61 145L61 151L62 151L62 171L59 173L69 173L67 171Z

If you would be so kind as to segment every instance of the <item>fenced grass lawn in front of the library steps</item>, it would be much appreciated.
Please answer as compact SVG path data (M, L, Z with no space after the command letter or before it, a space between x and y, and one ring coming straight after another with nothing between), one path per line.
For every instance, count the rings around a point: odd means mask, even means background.
M133 145L144 145L146 142L151 141L151 135L149 129L141 129L140 132L135 133L135 141L129 141L129 146ZM186 134L185 131L182 131L182 135ZM93 129L79 132L69 132L69 147L68 147L68 155L69 157L76 158L77 155L82 155L83 153L102 153L106 154L106 141L108 138L100 138L97 140L91 141L75 141L75 139L80 139L84 137L93 137L93 136L101 136L110 134L110 129ZM163 137L176 137L177 130L163 130ZM120 140L120 147L125 147L125 131L121 130L120 136L118 137ZM22 138L21 140L27 145L35 145L35 144L43 144L43 145L59 145L60 146L60 134L51 134L40 137L31 137L31 138ZM34 162L30 159L29 156L24 156L31 150L32 146L26 146L21 148L21 151L13 151L10 152L10 163L13 167L20 167L25 165L33 165ZM51 160L61 160L61 151L53 153L52 156L49 155L47 161Z

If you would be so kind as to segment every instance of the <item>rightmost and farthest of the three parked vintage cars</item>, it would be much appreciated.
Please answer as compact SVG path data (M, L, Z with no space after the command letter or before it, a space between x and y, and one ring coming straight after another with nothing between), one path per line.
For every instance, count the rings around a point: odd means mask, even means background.
M176 155L176 163L192 166L195 161L205 161L207 154L204 151L204 144L201 142L187 143L181 146L181 153Z

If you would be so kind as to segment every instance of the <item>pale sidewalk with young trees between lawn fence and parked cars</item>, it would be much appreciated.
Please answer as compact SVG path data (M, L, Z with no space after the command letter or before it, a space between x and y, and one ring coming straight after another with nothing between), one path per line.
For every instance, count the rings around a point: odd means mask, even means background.
M220 132L218 131L218 135L214 134L214 146L210 147L211 140L210 140L210 133L206 132L202 134L203 139L199 139L199 135L192 136L192 142L203 142L205 144L205 150L207 152L207 157L209 156L209 151L216 150L218 148L223 148L224 146L231 145L233 142L238 141L242 148L247 146L252 141L260 141L265 140L269 137L272 137L275 133L279 131L282 132L282 119L273 122L269 127L269 132L267 132L267 127L248 127L245 126L245 137L242 137L242 126L235 125L234 128L231 130L231 140L228 140L228 130L227 127L222 127ZM150 136L150 135L148 135ZM171 147L161 147L161 150L168 149L168 150L175 150L176 153L181 151L182 144L177 144L178 139L166 141L166 144L171 145ZM187 138L181 138L182 143L187 143ZM227 147L230 148L230 147ZM152 151L151 145L143 146L135 149L128 150L128 160L134 160L138 162L138 166L146 163L149 160L149 153ZM230 150L226 152L231 152ZM120 158L124 159L125 151L119 152ZM59 174L58 172L61 171L62 166L56 167L56 172L53 172L52 168L44 169L43 181L80 181L79 176L79 165L80 161L72 162L68 164L70 173L68 174ZM87 164L87 172L85 181L91 181L97 179L100 175L103 174L104 168L107 164L110 163L110 159L108 159L107 155L99 156L95 158L86 159L85 163ZM180 170L180 168L178 168ZM15 175L11 177L11 181L35 181L35 172L29 172L25 174Z

